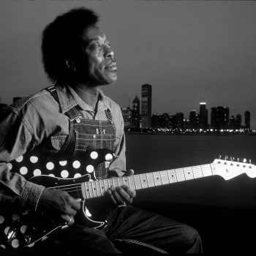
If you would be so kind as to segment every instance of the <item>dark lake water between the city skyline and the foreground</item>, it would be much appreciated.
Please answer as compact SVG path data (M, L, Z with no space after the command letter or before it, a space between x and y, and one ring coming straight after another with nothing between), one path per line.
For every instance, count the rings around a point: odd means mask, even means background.
M135 173L210 164L219 154L256 163L256 136L128 134L126 138L127 168L133 168ZM138 192L138 198L151 202L256 209L255 182L256 178L246 174L229 181L211 176Z

